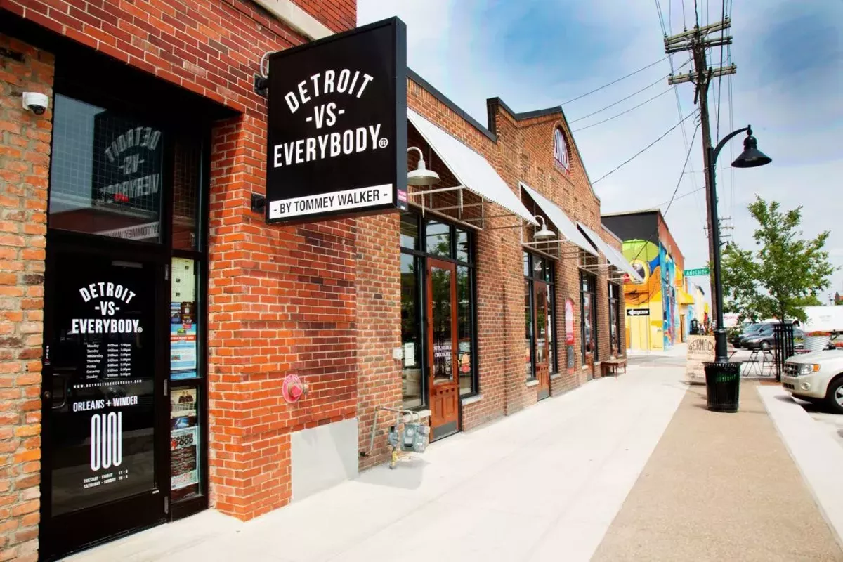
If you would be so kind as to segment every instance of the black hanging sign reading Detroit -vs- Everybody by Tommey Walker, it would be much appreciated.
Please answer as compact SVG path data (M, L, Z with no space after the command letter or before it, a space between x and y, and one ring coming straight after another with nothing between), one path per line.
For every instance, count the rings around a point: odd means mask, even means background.
M269 57L266 222L406 209L406 28L398 18Z

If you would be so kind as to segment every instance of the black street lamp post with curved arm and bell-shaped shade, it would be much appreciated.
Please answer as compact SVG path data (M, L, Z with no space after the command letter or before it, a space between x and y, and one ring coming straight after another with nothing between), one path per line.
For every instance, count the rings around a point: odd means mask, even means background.
M732 131L724 136L717 147L711 145L706 147L708 153L708 182L711 189L708 190L709 206L711 207L711 242L714 246L714 308L717 313L717 328L714 330L714 361L728 361L726 345L726 329L723 327L723 287L720 275L720 221L717 218L717 188L715 184L715 170L717 169L717 156L726 146L726 143L746 131L744 139L744 152L735 158L732 163L734 168L756 168L772 162L772 159L758 149L758 141L752 136L752 126Z

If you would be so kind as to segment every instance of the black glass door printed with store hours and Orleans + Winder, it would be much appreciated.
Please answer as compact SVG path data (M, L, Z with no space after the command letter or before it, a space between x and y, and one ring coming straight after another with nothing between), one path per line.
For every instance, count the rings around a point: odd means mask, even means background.
M142 252L48 249L41 553L164 522L164 264ZM165 306L165 305L164 305ZM165 322L165 320L164 320ZM165 430L164 430L165 431Z

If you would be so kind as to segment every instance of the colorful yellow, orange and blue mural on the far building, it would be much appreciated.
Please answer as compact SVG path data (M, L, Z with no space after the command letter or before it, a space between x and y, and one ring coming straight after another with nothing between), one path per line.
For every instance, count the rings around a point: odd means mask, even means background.
M645 351L668 350L682 340L686 330L676 301L682 274L678 281L675 261L660 244L627 240L624 257L644 280L624 283L626 345Z

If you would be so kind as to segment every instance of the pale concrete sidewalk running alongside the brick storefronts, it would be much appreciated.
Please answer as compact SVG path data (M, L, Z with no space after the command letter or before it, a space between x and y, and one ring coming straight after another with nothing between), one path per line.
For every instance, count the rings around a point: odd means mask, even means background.
M631 367L252 522L206 511L70 558L587 560L685 395Z

